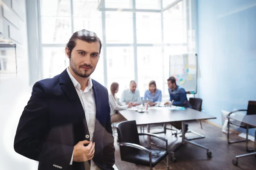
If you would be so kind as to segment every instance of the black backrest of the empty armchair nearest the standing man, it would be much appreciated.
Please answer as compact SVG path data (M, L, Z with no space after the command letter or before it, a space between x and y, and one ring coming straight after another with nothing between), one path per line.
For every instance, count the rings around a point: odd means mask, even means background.
M140 139L138 135L138 129L136 121L123 121L116 125L116 130L118 134L118 142L128 142L140 145ZM123 156L129 153L135 153L138 150L132 147L120 146L121 159Z

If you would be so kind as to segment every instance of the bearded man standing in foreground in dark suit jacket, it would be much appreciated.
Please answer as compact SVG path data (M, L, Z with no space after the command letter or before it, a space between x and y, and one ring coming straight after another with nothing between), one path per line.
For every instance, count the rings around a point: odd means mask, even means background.
M75 32L66 47L70 66L33 86L14 149L39 161L38 170L113 170L108 91L90 78L101 46L94 32Z

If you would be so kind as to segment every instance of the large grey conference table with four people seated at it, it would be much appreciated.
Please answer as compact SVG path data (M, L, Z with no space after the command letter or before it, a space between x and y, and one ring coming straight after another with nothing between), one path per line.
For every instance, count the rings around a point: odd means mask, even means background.
M119 111L122 116L125 117L128 121L135 120L137 125L146 125L148 133L150 133L150 125L171 123L171 122L182 122L182 142L178 145L172 152L182 146L185 143L193 144L195 146L204 148L207 150L207 156L211 157L212 153L209 151L208 147L205 147L201 144L186 140L185 138L185 122L193 120L205 120L205 119L216 119L216 117L211 116L207 113L196 111L191 108L186 108L185 110L172 110L170 107L151 107L148 111L144 113L137 112L135 110L122 110ZM151 138L148 136L148 145L151 144ZM175 157L173 155L173 160Z

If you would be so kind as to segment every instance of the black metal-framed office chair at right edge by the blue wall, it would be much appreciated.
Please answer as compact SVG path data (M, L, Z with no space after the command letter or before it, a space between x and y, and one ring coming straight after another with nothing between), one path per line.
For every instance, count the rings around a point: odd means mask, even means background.
M236 112L239 112L239 111L246 111L247 115L256 114L256 101L249 101L248 102L248 106L247 106L247 110L241 109L241 110L233 111L233 112L230 112L228 114L228 116L230 116L232 113L236 113ZM229 135L229 133L230 133L230 124L236 125L236 126L240 126L241 128L246 129L246 139L230 141L230 139L229 139L229 136L230 136ZM239 123L237 123L237 121L231 122L230 118L228 117L228 122L227 122L227 143L228 144L232 144L232 143L238 143L238 142L246 142L246 150L247 150L247 152L253 152L254 149L249 150L247 143L248 143L248 131L249 131L249 129L252 129L252 128L255 128L255 127L247 126L247 125L244 125L243 123L241 123L240 125L238 125L238 124Z

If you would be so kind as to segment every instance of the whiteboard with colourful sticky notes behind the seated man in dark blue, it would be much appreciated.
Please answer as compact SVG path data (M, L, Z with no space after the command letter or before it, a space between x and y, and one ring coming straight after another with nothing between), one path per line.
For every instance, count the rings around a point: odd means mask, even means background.
M175 77L176 84L183 87L188 94L197 93L198 62L197 54L170 55L169 77Z

